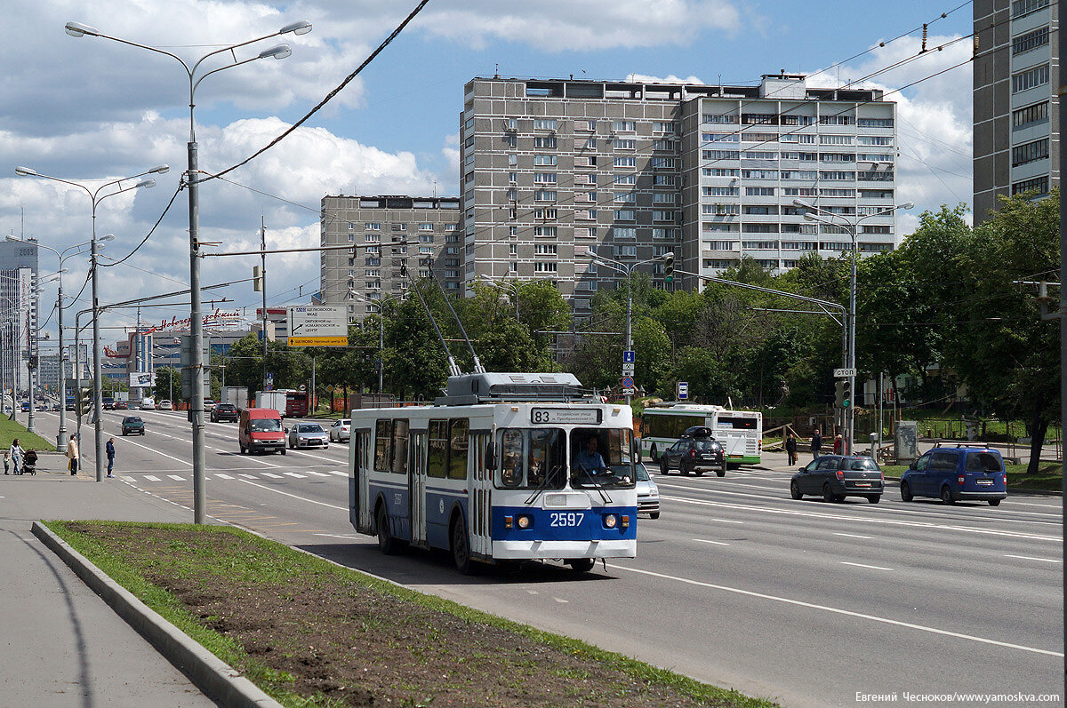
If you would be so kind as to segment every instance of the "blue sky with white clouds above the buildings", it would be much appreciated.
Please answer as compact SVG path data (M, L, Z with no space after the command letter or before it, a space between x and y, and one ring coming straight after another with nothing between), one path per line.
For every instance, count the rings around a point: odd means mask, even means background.
M415 4L291 3L241 0L11 0L0 28L6 47L0 103L0 229L57 247L83 240L84 198L44 180L14 176L15 165L66 179L116 178L160 162L172 165L155 190L109 200L99 230L114 232L109 255L126 255L152 227L177 189L188 134L186 79L176 62L100 38L73 38L76 20L101 32L187 58L207 45L268 34L308 19L310 34L285 37L292 55L264 60L209 77L197 92L202 166L221 170L287 128L369 53ZM455 194L456 134L463 84L474 76L622 80L630 75L716 83L754 83L779 69L812 73L847 60L933 21L929 46L971 31L972 9L949 1L891 3L740 0L431 0L426 10L355 81L290 139L230 175L250 189L214 183L202 191L205 239L223 248L255 247L260 214L269 243L313 245L317 210L327 193ZM255 50L278 39L256 45ZM913 57L920 32L887 44L840 68L847 81ZM866 85L887 90L966 62L969 41L930 51ZM241 54L241 58L251 55ZM15 59L18 58L18 66ZM839 70L811 83L834 85ZM971 68L924 81L899 100L898 191L915 213L971 198ZM128 266L108 269L101 302L188 283L185 194ZM302 205L302 206L293 206ZM223 263L221 261L225 260ZM269 269L273 304L306 302L317 258L278 259ZM204 281L232 279L253 260L209 259ZM49 263L43 262L47 269ZM84 264L76 268L84 269ZM82 271L83 272L83 271ZM77 279L75 276L69 276ZM80 276L78 276L80 277ZM300 286L304 287L302 291ZM68 283L67 290L71 285ZM230 289L233 305L254 307L248 286ZM52 295L49 295L52 296ZM47 296L46 296L47 301ZM47 308L45 308L47 311ZM160 319L177 312L159 312ZM126 315L111 318L126 323Z

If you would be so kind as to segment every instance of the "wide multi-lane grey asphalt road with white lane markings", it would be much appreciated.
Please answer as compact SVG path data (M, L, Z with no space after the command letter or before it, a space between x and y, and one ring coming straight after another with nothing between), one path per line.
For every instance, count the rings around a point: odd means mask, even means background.
M141 413L147 434L129 438L120 435L123 415L106 414L118 451L117 478L106 483L189 508L192 520L185 414ZM57 420L41 414L38 432L54 436ZM91 452L92 428L82 434ZM790 499L784 471L656 476L663 515L640 519L636 560L588 575L545 563L471 578L443 553L386 558L354 533L347 452L334 444L241 455L236 425L209 423L208 514L785 706L894 693L898 703L936 694L939 705L977 705L975 694L999 694L1014 698L1001 705L1063 705L1058 498L1013 496L997 509L904 504L893 485L877 505L828 504Z

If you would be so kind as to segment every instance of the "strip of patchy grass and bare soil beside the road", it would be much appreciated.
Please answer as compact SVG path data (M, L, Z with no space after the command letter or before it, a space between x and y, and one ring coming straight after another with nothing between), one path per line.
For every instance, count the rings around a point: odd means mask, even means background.
M47 526L286 706L775 705L230 527Z

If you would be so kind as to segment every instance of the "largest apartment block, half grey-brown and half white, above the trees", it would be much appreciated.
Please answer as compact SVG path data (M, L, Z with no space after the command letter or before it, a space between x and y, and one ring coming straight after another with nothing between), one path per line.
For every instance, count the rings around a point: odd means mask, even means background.
M771 271L850 247L800 198L892 250L895 103L880 91L476 78L460 115L464 279L544 278L576 313L623 268L673 252L715 275L743 256ZM662 262L643 267L666 287ZM698 286L681 278L682 287ZM612 286L614 287L614 286Z

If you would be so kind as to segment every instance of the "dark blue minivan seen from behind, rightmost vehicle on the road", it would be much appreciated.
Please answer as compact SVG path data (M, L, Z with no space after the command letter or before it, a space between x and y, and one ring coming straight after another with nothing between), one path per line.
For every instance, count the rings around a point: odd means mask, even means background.
M986 501L997 506L1007 498L1004 458L1000 451L984 445L939 444L901 476L901 499L911 501L915 497L940 498L946 504Z

